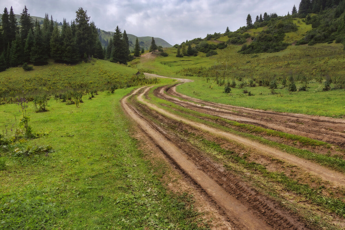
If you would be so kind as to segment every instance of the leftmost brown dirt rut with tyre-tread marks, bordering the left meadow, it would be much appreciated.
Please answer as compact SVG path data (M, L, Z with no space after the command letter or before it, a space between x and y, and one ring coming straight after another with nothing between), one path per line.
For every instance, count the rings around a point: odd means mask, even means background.
M138 97L141 102L142 95ZM135 90L137 94L142 88ZM171 136L155 123L146 119L127 99L121 100L126 113L156 144L162 153L214 203L233 225L233 229L307 229L298 218L279 207L274 201L248 188L236 176L226 172L222 166L213 163L197 149ZM144 102L146 103L146 102Z

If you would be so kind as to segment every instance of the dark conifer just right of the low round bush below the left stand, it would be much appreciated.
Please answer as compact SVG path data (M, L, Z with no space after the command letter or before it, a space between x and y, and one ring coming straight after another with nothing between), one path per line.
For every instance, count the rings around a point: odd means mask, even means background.
M37 20L35 23L34 43L33 47L31 48L30 61L35 66L45 65L48 63L48 54L44 50L42 31Z

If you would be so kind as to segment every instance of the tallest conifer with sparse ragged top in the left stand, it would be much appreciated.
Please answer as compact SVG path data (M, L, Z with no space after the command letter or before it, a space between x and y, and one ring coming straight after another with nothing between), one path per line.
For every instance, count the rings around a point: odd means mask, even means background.
M83 8L80 7L76 11L76 14L76 42L78 44L79 54L80 57L86 55L88 59L90 59L97 37L94 37L95 34L89 23L90 17L87 16L86 10L84 11Z

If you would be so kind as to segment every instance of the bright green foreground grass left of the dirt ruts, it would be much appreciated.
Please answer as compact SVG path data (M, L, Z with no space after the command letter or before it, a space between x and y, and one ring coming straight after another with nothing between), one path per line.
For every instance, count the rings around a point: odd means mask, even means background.
M207 229L188 195L161 184L165 163L145 160L130 137L119 100L132 89L84 98L78 109L50 100L48 112L34 113L29 103L33 131L49 135L22 144L50 144L55 151L31 158L1 154L1 229ZM0 110L2 129L20 116L16 104Z

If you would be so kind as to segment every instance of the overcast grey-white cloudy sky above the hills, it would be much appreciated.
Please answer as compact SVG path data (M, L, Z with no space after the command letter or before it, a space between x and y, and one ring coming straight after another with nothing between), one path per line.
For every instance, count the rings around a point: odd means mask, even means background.
M1 0L0 11L12 6L20 14L27 6L31 16L52 14L58 22L75 18L82 7L96 26L102 30L121 31L138 37L159 37L170 44L193 38L205 38L207 33L224 33L246 25L248 13L256 15L276 12L279 16L291 13L300 0Z

